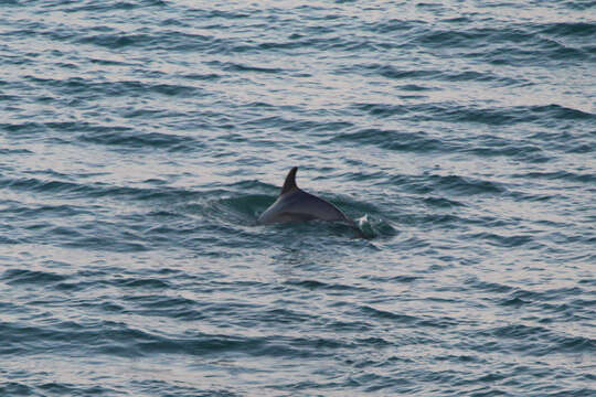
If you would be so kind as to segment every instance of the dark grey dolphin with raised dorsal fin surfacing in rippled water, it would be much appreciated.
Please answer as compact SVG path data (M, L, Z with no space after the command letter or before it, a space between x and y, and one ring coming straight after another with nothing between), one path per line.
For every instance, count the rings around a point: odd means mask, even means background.
M298 171L298 167L288 172L279 197L260 214L258 217L259 224L322 219L345 223L355 227L361 234L355 223L337 206L298 187L296 185L296 171Z

